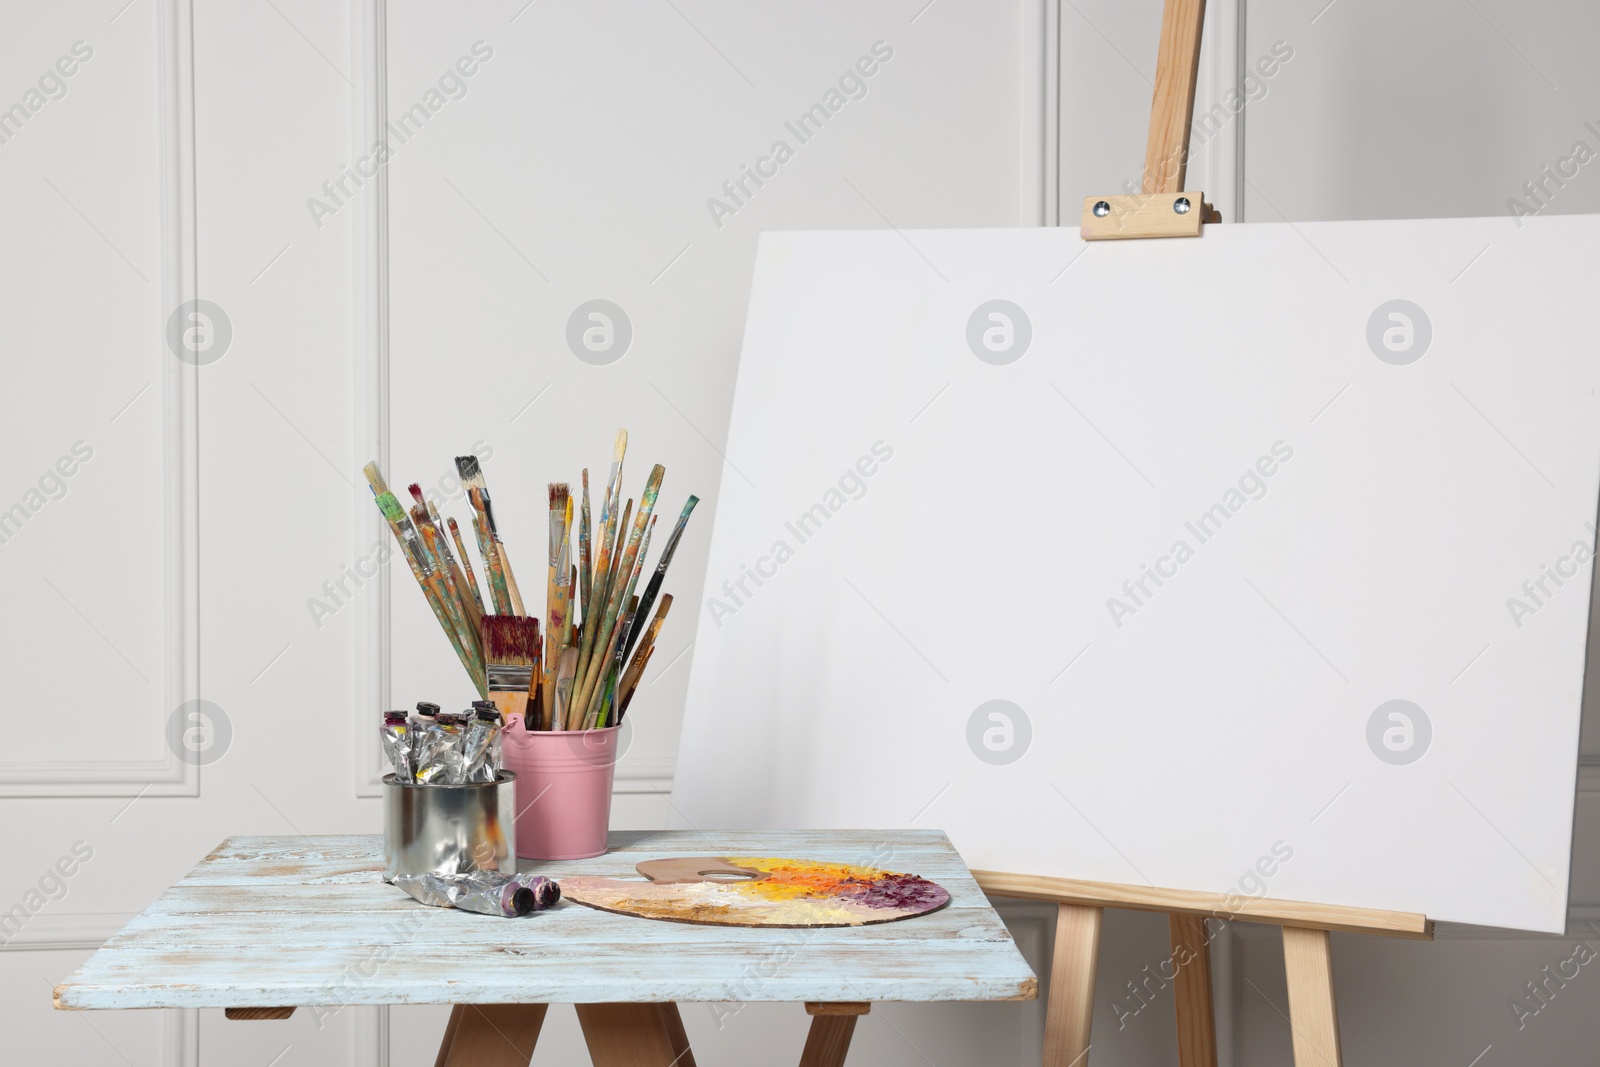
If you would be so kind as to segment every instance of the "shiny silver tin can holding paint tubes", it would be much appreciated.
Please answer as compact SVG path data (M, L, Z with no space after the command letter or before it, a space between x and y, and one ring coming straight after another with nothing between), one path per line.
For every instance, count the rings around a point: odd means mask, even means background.
M413 785L384 774L384 881L395 875L517 873L517 776Z

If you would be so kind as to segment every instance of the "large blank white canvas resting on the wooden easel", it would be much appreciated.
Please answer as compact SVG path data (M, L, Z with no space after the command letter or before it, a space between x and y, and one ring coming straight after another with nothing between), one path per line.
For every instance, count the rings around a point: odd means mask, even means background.
M1595 248L765 235L675 817L1562 931Z

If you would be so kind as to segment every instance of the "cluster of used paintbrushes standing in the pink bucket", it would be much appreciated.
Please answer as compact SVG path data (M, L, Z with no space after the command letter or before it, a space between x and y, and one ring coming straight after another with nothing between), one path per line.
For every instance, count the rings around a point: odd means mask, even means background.
M618 430L611 475L600 501L600 517L592 526L589 470L584 470L582 506L578 509L578 558L573 558L571 486L565 482L550 483L542 625L523 608L475 456L458 456L456 470L472 504L472 531L483 561L488 601L478 592L478 579L456 520L442 520L438 509L424 499L418 485L410 486L416 504L406 514L384 483L378 464L366 464L366 480L378 498L378 510L400 542L438 625L478 696L493 701L507 721L518 715L528 729L616 726L638 689L661 624L672 608L672 597L661 595L661 582L699 498L690 496L683 504L654 573L645 590L635 595L650 537L656 530L656 496L661 493L666 467L656 464L651 469L638 501L638 514L634 515L634 501L622 504L626 451L627 430ZM656 609L653 619L651 608Z

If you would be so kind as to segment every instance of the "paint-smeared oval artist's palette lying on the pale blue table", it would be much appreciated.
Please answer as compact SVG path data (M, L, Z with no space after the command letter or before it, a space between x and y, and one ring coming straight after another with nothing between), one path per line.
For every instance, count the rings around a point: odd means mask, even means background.
M562 896L603 912L720 926L869 926L950 902L917 875L757 856L674 856L638 864L650 881L573 875Z

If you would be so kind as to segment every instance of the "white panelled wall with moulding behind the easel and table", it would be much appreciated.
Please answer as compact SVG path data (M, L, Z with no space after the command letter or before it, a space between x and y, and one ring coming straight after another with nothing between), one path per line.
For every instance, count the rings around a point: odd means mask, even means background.
M0 509L32 502L29 488L75 442L94 448L64 496L50 483L59 499L0 544L18 712L0 760L0 910L27 901L77 841L93 849L64 896L40 897L0 949L0 1032L19 1062L430 1062L437 1009L350 1009L318 1030L307 1017L48 1008L48 984L221 837L378 829L368 713L456 681L406 576L392 611L371 581L312 619L307 600L326 600L323 582L374 534L360 464L387 442L390 472L410 480L442 472L462 437L493 438L490 477L533 558L526 486L602 466L611 429L627 424L635 478L659 458L666 498L698 491L709 520L720 480L739 477L717 450L760 229L1040 224L1054 219L1058 190L1070 224L1083 195L1122 190L1142 165L1155 0L674 3L200 0L192 93L186 0L5 6L0 106L24 101L74 42L94 50L66 96L0 144L13 250L0 261L11 342ZM1192 163L1189 186L1229 219L1499 213L1574 141L1600 147L1584 126L1600 125L1589 5L1258 2L1240 21L1242 6L1210 5L1202 112L1274 42L1294 58L1245 115L1206 131ZM397 152L387 214L370 186L318 227L306 202L370 147L378 86L408 107L475 40L494 58ZM706 198L875 40L896 54L867 96L717 227ZM1549 210L1600 210L1592 170ZM387 365L376 330L384 234ZM234 331L226 355L198 370L162 341L195 290ZM570 310L594 296L635 323L634 347L611 366L579 363L562 341ZM430 360L470 381L426 381ZM686 601L707 528L674 571ZM392 678L381 641L390 621ZM690 630L685 619L667 651L686 648ZM664 819L691 656L648 689L619 825ZM59 726L62 677L74 681L70 733L27 729L34 709ZM197 696L230 731L205 766L165 737L171 712ZM1590 696L1584 750L1600 758ZM306 745L296 729L326 742ZM1600 921L1597 777L1587 773L1579 805L1578 923ZM1042 966L1050 909L1006 915ZM1160 917L1109 918L1096 1062L1171 1062L1166 998L1122 1029L1110 1008L1166 955L1165 941ZM1434 944L1341 937L1350 1062L1467 1064L1488 1045L1483 1064L1581 1061L1600 1006L1592 968L1520 1032L1507 1006L1571 945L1483 931ZM1216 977L1224 1062L1283 1062L1270 931L1221 942ZM704 1008L685 1017L702 1064L758 1054L768 1035L798 1054L803 1033L798 1008L752 1006L722 1030ZM1037 1006L890 1006L862 1021L856 1057L1037 1062ZM552 1013L536 1062L581 1059L579 1046L571 1013Z

